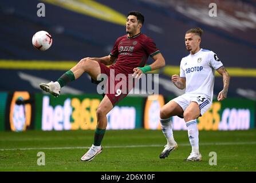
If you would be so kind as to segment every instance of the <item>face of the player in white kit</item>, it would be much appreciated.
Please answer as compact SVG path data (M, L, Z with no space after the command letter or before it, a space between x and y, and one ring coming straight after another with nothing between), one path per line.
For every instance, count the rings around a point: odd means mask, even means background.
M201 38L194 33L188 33L185 35L185 45L188 51L194 52L199 48L200 42Z

